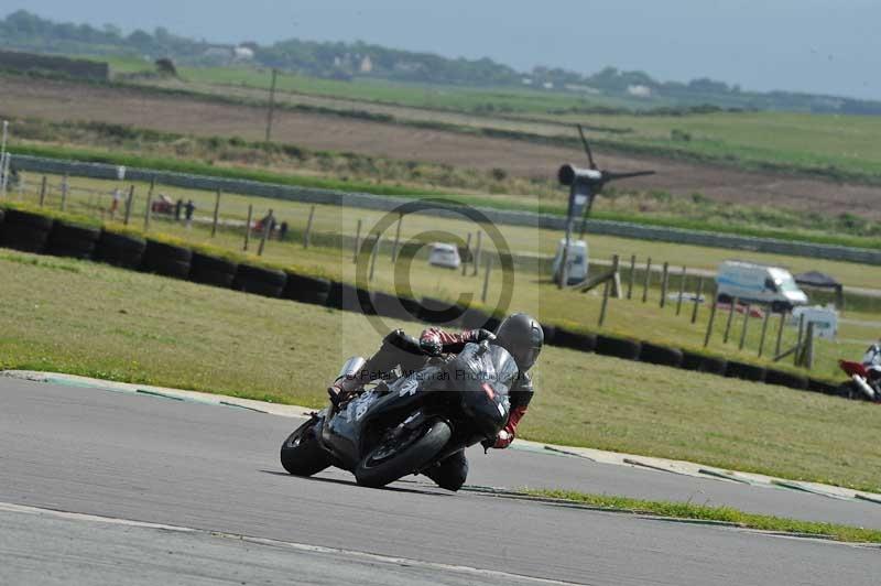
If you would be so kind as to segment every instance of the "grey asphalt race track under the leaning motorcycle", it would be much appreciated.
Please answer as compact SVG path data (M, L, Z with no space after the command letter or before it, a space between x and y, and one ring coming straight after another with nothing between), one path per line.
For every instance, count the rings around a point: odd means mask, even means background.
M0 379L0 584L874 585L878 549L281 469L295 420ZM881 527L881 506L588 460L471 455L475 485L692 498ZM65 512L57 512L65 511ZM72 514L74 513L74 514ZM163 527L170 525L170 527Z

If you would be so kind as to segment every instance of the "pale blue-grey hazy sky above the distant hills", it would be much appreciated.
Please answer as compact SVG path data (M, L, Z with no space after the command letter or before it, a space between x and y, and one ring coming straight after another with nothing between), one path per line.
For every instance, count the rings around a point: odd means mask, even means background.
M0 0L55 20L213 41L357 39L530 69L611 65L660 79L881 99L879 0Z

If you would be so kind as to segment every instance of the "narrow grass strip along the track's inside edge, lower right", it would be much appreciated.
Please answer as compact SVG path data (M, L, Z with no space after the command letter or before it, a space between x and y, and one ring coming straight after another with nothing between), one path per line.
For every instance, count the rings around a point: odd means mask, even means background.
M793 533L805 536L830 538L835 541L848 543L881 543L881 531L873 529L748 513L731 507L708 507L693 504L690 502L641 500L607 495L589 495L572 490L526 490L525 493L539 498L559 499L566 502L616 511L629 511L673 519L719 521L732 523L746 529Z

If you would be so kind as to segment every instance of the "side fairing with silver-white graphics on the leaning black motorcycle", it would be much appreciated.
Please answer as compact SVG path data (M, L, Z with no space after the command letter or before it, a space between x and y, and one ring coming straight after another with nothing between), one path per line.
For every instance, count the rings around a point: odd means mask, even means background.
M355 469L370 442L369 431L381 420L400 423L428 405L446 390L449 376L443 366L429 366L352 399L346 408L325 420L320 441L339 462Z

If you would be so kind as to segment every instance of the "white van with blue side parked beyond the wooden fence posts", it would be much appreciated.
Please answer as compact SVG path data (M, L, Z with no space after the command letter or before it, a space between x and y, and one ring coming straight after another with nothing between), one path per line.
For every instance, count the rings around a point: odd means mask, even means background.
M718 300L735 297L748 303L770 305L772 311L791 311L807 303L807 295L795 284L790 271L752 262L727 260L716 275Z

